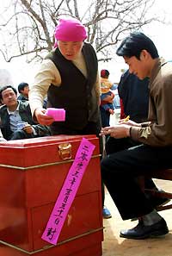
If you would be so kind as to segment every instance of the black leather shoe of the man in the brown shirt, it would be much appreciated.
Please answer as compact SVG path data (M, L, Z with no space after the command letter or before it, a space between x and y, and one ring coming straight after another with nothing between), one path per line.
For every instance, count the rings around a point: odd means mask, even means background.
M143 222L138 222L138 225L132 229L120 231L120 237L129 239L145 239L150 237L159 237L169 233L167 223L163 220L151 225L144 226Z

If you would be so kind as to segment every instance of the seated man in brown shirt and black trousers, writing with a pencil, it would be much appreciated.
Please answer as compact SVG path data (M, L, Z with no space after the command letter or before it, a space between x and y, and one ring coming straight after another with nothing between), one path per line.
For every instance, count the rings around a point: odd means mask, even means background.
M159 58L153 41L139 32L127 36L117 54L124 58L130 73L140 79L150 78L148 122L121 121L114 127L101 129L101 135L110 134L115 139L128 137L141 143L103 158L102 179L122 219L138 218L138 225L121 230L120 237L158 237L168 234L169 228L138 185L138 177L172 167L172 66Z

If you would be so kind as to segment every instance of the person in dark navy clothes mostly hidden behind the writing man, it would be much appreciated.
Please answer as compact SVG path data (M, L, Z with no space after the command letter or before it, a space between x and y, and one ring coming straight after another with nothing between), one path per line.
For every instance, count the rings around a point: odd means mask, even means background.
M149 109L149 78L140 80L136 75L126 70L120 78L118 91L120 96L120 119L130 116L134 122L147 122ZM129 147L138 146L141 142L132 140L132 138L114 139L112 137L107 141L107 154L118 152ZM152 179L145 178L144 185L146 189L157 189ZM151 197L148 193L147 197ZM151 197L151 203L154 207L168 203L167 198Z

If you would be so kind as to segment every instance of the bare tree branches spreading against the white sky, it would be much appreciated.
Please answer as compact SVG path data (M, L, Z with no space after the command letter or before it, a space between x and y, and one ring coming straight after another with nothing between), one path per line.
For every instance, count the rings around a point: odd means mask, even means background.
M126 33L158 20L150 17L155 0L11 0L0 18L0 52L6 61L26 55L28 61L52 50L53 32L63 16L77 17L88 29L99 60L113 58ZM10 9L10 11L9 11ZM30 56L30 57L29 57Z

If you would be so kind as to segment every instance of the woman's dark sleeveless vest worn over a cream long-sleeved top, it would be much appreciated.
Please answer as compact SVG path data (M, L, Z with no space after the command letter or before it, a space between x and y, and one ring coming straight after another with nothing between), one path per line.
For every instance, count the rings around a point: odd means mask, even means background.
M83 57L88 78L71 60L65 59L58 48L46 56L57 67L61 77L60 86L50 85L47 92L47 108L65 109L65 122L53 122L53 134L65 134L66 130L82 130L88 123L91 108L91 91L95 84L98 64L93 47L84 43ZM95 121L96 122L96 121Z

